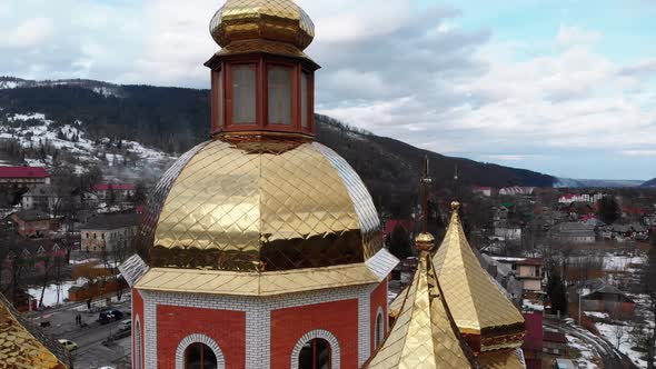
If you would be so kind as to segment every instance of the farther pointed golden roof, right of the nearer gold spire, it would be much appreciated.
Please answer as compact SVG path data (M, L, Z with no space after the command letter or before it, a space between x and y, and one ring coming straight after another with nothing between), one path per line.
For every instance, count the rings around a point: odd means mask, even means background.
M459 203L453 208L433 261L454 320L464 335L480 336L481 347L473 347L474 351L520 347L524 317L480 266L463 231Z

